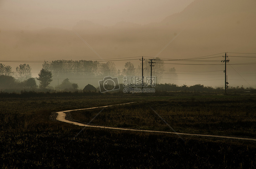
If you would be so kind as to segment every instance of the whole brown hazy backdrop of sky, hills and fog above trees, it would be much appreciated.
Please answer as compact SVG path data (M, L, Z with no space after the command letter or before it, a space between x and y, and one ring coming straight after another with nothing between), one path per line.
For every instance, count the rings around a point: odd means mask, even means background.
M128 61L138 69L141 56L145 64L159 57L165 63L159 83L223 87L227 52L229 85L256 88L255 6L255 0L1 0L0 63L13 71L28 63L36 77L44 60L113 58L123 70ZM195 57L201 59L186 60Z

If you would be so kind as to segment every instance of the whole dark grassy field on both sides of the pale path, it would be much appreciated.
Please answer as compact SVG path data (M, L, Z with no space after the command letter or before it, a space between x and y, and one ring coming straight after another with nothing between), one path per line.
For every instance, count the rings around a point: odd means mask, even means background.
M256 96L40 94L0 96L1 168L256 168L256 142L86 128L56 111L109 107L92 124L256 139ZM89 122L101 109L71 112Z

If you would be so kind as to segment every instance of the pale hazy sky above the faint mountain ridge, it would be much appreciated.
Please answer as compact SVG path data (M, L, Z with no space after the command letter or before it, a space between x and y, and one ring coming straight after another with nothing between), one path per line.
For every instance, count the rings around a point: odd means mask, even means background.
M80 20L101 25L148 24L182 11L193 0L0 0L0 29L72 29Z

